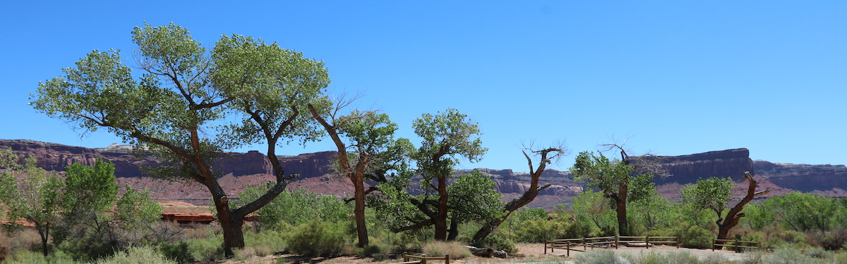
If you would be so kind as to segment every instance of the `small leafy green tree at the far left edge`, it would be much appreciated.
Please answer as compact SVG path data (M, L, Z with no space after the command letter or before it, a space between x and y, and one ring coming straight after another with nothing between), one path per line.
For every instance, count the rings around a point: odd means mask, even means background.
M61 220L62 192L64 180L56 173L48 173L36 167L35 158L26 158L18 163L18 156L11 149L0 151L0 212L13 225L19 218L34 223L42 242L42 253L49 253L49 239Z

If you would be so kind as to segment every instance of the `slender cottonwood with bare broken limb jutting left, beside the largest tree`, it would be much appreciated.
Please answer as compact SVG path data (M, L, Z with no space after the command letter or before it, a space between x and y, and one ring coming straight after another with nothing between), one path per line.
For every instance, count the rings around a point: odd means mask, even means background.
M355 98L353 98L355 99ZM336 102L329 113L318 113L309 105L309 112L318 123L324 126L338 151L337 171L350 179L353 187L353 214L356 218L358 247L368 245L368 227L365 223L365 187L366 174L379 166L383 152L388 151L394 139L397 124L391 122L385 113L354 110L347 115L340 111L352 100Z

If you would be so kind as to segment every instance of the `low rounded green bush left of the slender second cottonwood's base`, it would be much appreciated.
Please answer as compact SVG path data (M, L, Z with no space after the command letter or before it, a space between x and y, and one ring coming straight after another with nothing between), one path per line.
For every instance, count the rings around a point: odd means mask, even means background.
M314 219L284 235L288 250L304 256L336 256L350 245L349 223L333 223Z

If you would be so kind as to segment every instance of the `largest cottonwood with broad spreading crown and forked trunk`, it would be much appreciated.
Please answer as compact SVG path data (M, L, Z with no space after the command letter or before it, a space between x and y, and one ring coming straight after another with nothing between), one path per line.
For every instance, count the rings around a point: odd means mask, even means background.
M132 31L138 46L133 78L120 53L95 50L64 76L39 83L30 102L37 110L85 131L107 129L157 155L163 166L149 173L191 179L212 194L224 234L224 252L244 246L244 217L279 195L294 175L285 175L275 155L280 141L313 139L306 104L326 106L329 77L322 62L303 58L276 43L222 36L209 54L177 25L145 25ZM241 118L241 122L230 122ZM268 145L276 184L244 206L230 201L211 167L219 153L245 144Z

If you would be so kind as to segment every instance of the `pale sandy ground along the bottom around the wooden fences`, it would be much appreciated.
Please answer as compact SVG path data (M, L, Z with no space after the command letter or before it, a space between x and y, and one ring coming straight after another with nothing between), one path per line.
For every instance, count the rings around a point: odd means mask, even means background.
M565 250L556 250L556 251L553 251L553 252L550 252L550 250L548 250L547 254L545 255L544 254L544 244L518 244L516 246L518 247L518 253L515 254L514 256L510 256L509 258L506 258L506 259L481 258L481 257L475 257L474 256L474 257L469 257L469 258L462 259L462 260L453 260L453 261L450 261L450 263L457 263L457 264L478 264L478 263L479 264L484 264L484 263L485 264L487 264L487 263L492 263L492 264L493 263L513 263L513 264L534 263L534 264L538 264L538 263L545 263L545 262L546 263L554 263L554 262L555 263L573 263L573 257L574 256L579 256L579 254L583 254L582 252L579 252L579 251L571 251L570 257L567 257L567 256L565 256L565 255L567 255ZM615 250L615 249L596 249L596 250ZM688 251L689 253L691 253L691 255L699 256L700 258L705 258L706 256L710 256L712 254L720 254L722 256L725 256L729 261L740 261L740 260L743 259L743 254L735 253L734 251L728 251L728 250L711 251L711 250L695 250L695 249L686 249L686 248L677 249L675 246L667 246L667 245L650 247L650 249L639 248L639 247L630 248L630 247L623 247L622 246L619 249L617 249L617 252L623 253L623 254L629 254L629 255L632 255L632 256L638 256L643 251L650 251L650 252L657 252L657 253L661 253L661 254L666 254L667 252L681 251L681 250ZM397 263L397 262L402 261L402 260L397 260L397 259L385 260L385 261L374 261L374 259L371 259L371 258L359 258L359 257L356 257L356 256L340 256L340 257L334 257L334 258L304 258L304 257L298 257L298 256L285 255L285 256L253 257L253 258L248 258L248 259L243 260L243 261L230 260L230 261L224 261L224 262L221 262L221 263L222 264L236 264L236 263L238 263L238 264L275 264L275 263L278 263L277 259L279 259L279 258L285 258L286 259L285 263L321 263L321 264L340 264L340 263L389 264L389 263ZM283 262L279 262L279 263L283 263ZM440 262L435 262L435 263L440 263Z

